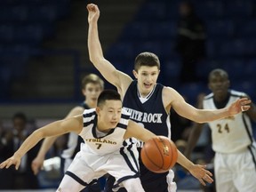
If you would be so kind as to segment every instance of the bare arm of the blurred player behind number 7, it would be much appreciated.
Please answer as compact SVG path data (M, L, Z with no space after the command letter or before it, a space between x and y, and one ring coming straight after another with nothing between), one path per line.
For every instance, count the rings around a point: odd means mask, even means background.
M68 118L71 116L79 116L83 114L83 112L84 112L84 108L82 107L72 108L68 113L68 116L66 116L65 118ZM57 140L58 137L59 136L54 136L54 137L48 137L44 139L44 142L39 152L37 153L36 158L31 163L31 169L34 172L34 174L37 174L41 170L44 164L44 158L46 156L46 153L49 151L50 148L52 148L53 143L55 142L55 140Z

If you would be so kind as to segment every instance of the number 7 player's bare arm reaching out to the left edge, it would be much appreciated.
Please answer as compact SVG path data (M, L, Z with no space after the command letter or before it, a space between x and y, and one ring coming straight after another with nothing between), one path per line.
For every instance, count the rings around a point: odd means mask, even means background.
M35 147L43 138L58 136L67 132L79 133L82 128L83 116L71 117L45 125L44 127L37 129L35 132L32 132L14 155L0 164L0 169L3 169L4 167L9 168L13 164L15 165L16 170L18 170L21 157L24 156L29 149Z

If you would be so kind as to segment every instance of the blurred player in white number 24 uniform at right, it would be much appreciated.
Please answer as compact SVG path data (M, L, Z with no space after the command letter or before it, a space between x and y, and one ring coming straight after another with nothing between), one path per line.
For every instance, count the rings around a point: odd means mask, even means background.
M249 97L244 92L229 89L228 73L220 68L209 75L212 91L204 97L200 108L227 108L234 100ZM212 130L212 149L215 151L214 172L218 192L256 191L256 144L251 120L256 120L256 108L209 123ZM204 124L194 124L188 139L186 156L190 156Z

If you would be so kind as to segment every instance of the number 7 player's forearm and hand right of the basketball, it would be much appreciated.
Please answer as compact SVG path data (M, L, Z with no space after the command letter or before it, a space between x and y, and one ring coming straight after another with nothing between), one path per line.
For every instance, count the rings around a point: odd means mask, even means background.
M201 164L193 164L191 161L188 160L185 156L183 156L180 151L178 150L178 159L177 163L183 166L190 172L197 180L200 181L202 185L205 186L205 182L212 183L212 173L208 170L205 170L206 165Z

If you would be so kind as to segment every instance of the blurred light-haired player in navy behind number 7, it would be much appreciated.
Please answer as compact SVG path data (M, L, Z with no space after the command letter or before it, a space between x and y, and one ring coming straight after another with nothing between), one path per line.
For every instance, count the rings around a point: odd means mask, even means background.
M100 92L104 89L104 82L95 74L89 74L84 76L81 82L81 88L84 95L84 102L82 102L79 106L72 108L68 113L68 117L77 116L84 112L84 109L96 108L97 99L100 95ZM83 142L83 139L79 137L76 133L70 132L67 135L67 146L63 149L60 157L61 157L61 172L64 173L68 169L68 166L71 164L72 160L76 156L76 153L80 149L80 144ZM44 158L47 151L52 147L54 141L58 137L46 138L36 156L34 161L31 164L32 170L34 174L37 174L44 163ZM103 179L102 179L103 180ZM86 188L84 192L100 192L100 183L93 182L92 186Z

